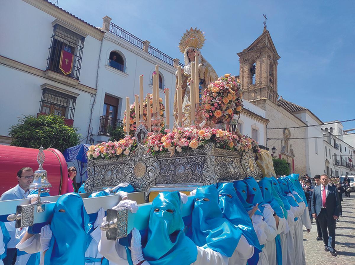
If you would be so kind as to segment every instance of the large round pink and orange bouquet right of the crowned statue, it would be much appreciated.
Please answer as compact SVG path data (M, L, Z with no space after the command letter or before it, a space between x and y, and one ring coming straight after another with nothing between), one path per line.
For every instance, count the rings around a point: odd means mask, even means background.
M212 124L230 122L242 110L242 96L239 79L225 74L203 91L203 117Z

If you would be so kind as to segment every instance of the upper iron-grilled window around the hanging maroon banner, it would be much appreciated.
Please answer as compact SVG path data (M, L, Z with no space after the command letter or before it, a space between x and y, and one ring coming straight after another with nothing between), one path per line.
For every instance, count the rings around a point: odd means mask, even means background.
M62 73L59 68L62 51L72 53L73 60L71 73L66 75L79 80L84 40L85 38L83 36L62 27L59 24L55 24L49 47L47 69Z

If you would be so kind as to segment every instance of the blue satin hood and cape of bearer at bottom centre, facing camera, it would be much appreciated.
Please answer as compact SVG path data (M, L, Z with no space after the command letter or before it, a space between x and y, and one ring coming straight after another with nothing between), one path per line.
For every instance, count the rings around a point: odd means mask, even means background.
M184 233L180 193L160 192L152 202L144 259L151 265L190 265L197 258L196 244Z

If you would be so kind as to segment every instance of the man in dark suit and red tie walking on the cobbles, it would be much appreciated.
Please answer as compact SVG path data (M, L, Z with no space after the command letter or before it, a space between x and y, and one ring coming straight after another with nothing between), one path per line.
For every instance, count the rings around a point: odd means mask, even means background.
M324 250L337 256L335 251L335 221L339 217L339 196L336 187L328 185L328 176L321 176L321 185L313 190L312 215L320 224ZM328 234L328 231L329 234Z

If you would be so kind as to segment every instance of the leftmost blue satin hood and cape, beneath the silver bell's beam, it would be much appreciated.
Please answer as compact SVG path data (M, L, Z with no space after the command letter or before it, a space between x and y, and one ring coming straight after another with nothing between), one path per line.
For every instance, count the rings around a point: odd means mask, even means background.
M59 212L64 209L65 212ZM59 197L54 205L50 229L53 233L44 256L45 265L84 265L89 216L77 193Z

